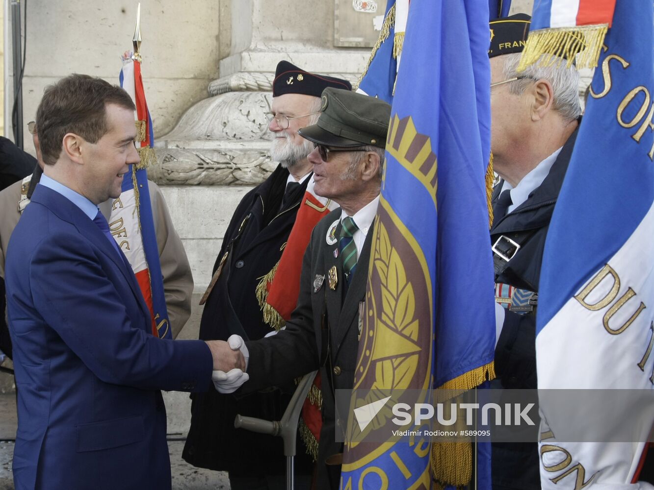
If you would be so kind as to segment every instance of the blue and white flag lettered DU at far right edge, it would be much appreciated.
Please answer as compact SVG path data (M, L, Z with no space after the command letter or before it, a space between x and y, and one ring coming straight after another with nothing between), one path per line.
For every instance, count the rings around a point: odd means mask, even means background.
M565 3L574 18L585 2ZM555 18L559 2L537 4ZM654 387L653 25L652 0L617 1L542 263L538 388L606 390L607 404ZM638 475L654 408L634 402L599 423L596 408L541 403L542 488L651 489ZM579 441L571 426L585 442L566 442ZM627 436L606 442L616 433Z

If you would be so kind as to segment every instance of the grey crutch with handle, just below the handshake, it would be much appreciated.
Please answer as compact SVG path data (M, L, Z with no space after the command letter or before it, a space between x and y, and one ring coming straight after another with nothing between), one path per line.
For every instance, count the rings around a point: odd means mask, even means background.
M270 434L271 436L281 436L284 440L286 490L294 490L295 487L294 457L298 434L298 419L300 418L304 400L307 398L307 393L309 393L309 388L311 388L313 378L316 377L317 372L313 371L303 376L290 402L288 402L288 406L281 420L269 421L254 417L243 417L241 415L237 415L234 419L234 427L237 429L240 428L261 434Z

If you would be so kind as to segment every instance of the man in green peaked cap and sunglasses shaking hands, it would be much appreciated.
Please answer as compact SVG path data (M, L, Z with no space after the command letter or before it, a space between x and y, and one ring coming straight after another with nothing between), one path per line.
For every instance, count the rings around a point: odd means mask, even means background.
M300 135L315 144L309 154L315 192L341 207L313 229L298 305L286 329L245 342L249 381L242 373L225 380L226 391L245 383L240 392L249 393L320 370L322 430L314 487L322 490L337 489L341 474L334 390L353 387L389 120L390 105L379 99L334 88L322 92L318 122ZM243 345L238 338L230 338L232 343Z

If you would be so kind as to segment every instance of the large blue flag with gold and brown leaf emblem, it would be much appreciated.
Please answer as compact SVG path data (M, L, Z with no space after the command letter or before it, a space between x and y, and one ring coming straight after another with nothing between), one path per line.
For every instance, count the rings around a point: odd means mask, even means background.
M371 246L355 402L360 389L471 389L494 377L485 188L488 21L487 0L411 0ZM346 441L341 488L428 489L432 478L465 485L472 463L462 467L453 453L471 461L472 450L468 443L430 444L429 438L373 447ZM489 451L485 455L477 487L490 488Z

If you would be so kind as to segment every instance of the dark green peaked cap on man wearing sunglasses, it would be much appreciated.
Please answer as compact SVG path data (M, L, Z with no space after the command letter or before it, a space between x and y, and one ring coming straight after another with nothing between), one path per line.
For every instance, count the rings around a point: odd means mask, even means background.
M390 105L384 101L328 87L322 91L320 111L317 124L300 129L305 139L325 146L385 148Z

